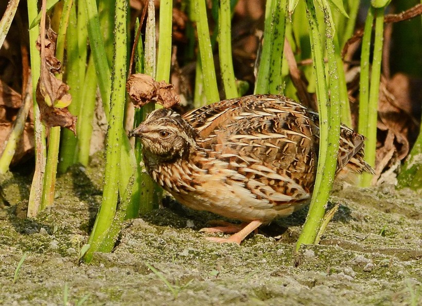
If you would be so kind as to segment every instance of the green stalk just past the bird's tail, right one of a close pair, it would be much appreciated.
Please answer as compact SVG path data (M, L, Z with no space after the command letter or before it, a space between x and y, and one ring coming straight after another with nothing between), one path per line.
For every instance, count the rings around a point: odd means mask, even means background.
M375 16L375 41L374 55L371 69L371 85L369 101L367 106L366 121L366 140L365 140L365 161L372 167L375 167L375 156L377 148L377 116L378 116L378 98L379 83L381 74L382 42L384 35L384 8L371 8ZM360 105L360 104L359 104ZM365 173L362 176L361 186L371 185L373 175Z

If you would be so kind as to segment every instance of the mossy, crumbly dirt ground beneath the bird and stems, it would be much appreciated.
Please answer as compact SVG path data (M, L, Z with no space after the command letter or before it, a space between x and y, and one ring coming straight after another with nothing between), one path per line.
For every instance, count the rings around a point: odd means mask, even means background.
M31 220L22 218L31 177L1 178L0 304L422 304L422 200L409 189L335 192L330 206L341 205L321 244L297 255L306 209L237 246L198 232L218 216L167 199L166 208L127 221L113 253L79 264L102 168L98 156L89 168L73 167L57 181L55 205Z

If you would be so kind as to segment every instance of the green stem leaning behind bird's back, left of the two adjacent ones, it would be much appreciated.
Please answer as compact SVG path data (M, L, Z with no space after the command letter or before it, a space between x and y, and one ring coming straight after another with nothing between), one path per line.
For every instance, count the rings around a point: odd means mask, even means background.
M205 0L196 0L195 9L197 12L198 44L201 56L205 97L207 103L214 103L219 101L220 97L217 88L216 71L214 68L213 49L209 39Z

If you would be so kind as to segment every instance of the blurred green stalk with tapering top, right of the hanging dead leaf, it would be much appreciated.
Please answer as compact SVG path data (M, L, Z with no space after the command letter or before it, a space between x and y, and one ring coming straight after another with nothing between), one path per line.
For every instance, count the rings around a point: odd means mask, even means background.
M81 95L81 106L78 116L78 162L88 165L90 158L90 144L92 136L92 121L94 119L95 102L97 100L97 75L93 56L90 56L86 69L85 82Z

